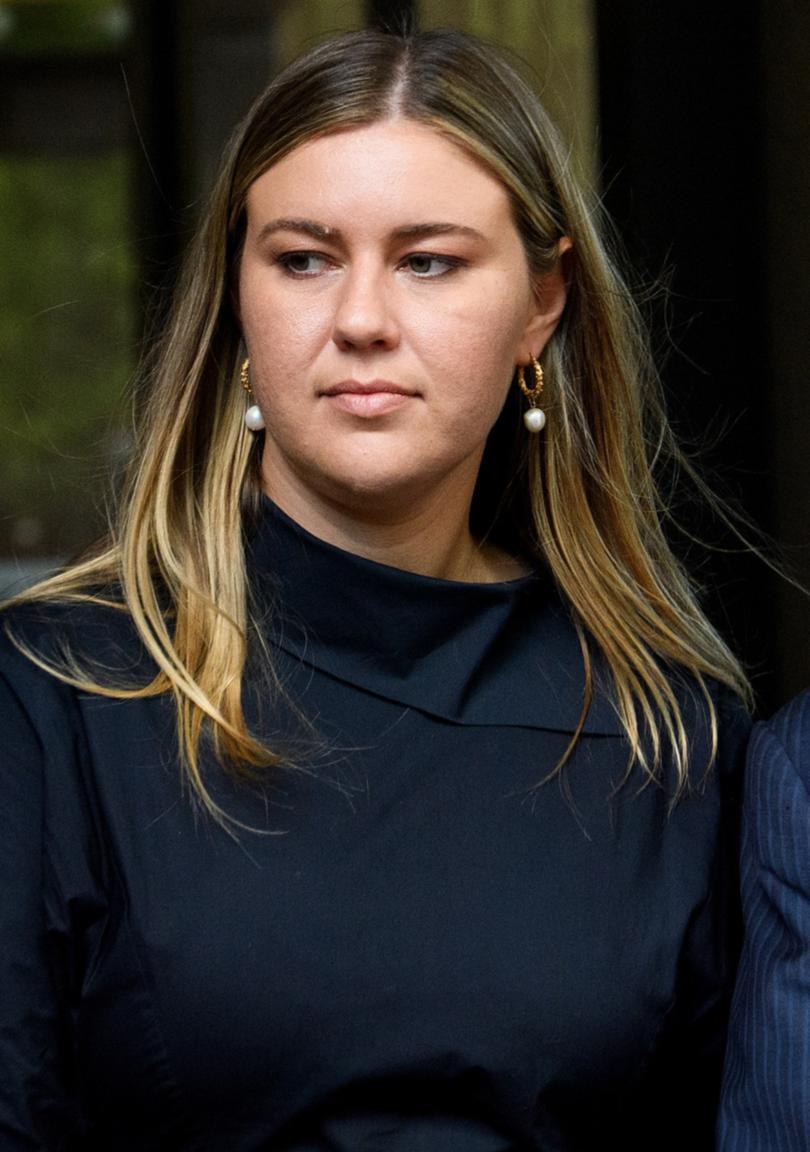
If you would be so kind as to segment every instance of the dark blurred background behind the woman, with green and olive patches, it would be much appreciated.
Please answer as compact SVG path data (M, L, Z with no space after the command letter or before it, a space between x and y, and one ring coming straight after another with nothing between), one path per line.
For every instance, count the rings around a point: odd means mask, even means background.
M0 592L103 528L127 396L225 141L320 38L455 26L536 86L616 222L673 420L810 586L805 0L0 2ZM167 414L171 418L171 414ZM763 711L810 685L810 599L679 509Z

